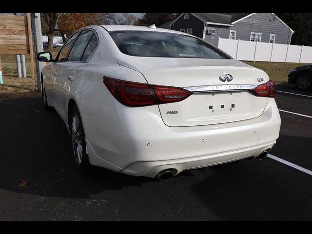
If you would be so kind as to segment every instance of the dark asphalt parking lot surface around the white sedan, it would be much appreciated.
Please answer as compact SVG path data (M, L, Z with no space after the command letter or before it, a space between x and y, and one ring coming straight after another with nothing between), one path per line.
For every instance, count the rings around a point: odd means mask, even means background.
M167 182L101 168L79 175L55 111L40 98L2 100L0 220L312 220L312 92L277 91L282 125L269 157Z

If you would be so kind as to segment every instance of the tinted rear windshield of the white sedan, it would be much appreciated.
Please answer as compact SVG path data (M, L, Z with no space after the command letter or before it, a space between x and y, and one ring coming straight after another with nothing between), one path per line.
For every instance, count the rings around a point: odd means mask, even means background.
M118 49L126 55L139 57L231 59L217 48L192 36L150 32L109 32Z

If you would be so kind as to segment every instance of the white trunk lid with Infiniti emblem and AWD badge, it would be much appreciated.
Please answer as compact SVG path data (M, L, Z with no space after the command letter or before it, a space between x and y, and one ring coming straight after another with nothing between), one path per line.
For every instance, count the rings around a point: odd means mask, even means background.
M168 126L197 126L260 116L267 98L249 90L269 81L262 70L235 59L148 58L121 55L117 62L142 73L149 84L182 87L194 92L173 103L160 104ZM233 80L220 80L230 74ZM223 76L224 78L225 76ZM257 78L263 78L259 79Z

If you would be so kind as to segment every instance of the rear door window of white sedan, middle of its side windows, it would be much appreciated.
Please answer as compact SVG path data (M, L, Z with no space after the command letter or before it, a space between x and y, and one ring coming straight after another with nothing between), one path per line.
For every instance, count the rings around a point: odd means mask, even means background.
M81 61L84 51L93 36L94 33L90 30L82 31L73 45L73 48L68 56L68 61Z

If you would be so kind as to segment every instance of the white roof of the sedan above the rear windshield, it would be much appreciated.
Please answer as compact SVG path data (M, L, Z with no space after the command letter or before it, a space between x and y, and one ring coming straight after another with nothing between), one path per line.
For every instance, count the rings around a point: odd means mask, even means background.
M175 31L175 30L164 29L164 28L149 28L145 26L115 25L115 24L103 24L99 26L105 28L108 32L110 31L151 31L151 32L176 33L176 34L182 34L182 35L195 37L194 35L182 33L182 32Z

